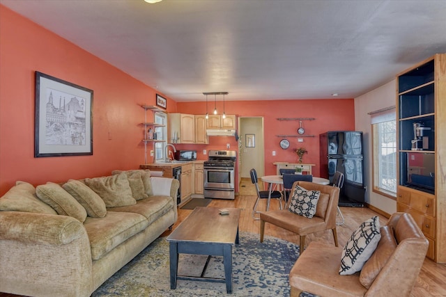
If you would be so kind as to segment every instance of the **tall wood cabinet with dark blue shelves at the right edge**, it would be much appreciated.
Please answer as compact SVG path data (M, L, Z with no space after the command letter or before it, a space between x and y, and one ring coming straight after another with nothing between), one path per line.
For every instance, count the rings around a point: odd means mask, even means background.
M445 97L446 54L397 75L397 211L413 216L429 241L427 257L439 263L446 263Z

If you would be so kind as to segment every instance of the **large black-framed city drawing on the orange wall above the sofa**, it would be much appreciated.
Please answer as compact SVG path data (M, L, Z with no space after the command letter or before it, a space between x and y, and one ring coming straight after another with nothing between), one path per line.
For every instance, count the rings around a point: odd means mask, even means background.
M36 71L34 157L93 154L93 90Z

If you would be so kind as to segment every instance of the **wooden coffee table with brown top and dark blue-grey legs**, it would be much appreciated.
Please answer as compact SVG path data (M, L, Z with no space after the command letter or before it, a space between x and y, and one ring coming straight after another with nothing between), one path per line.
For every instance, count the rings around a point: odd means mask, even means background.
M226 282L227 293L232 293L232 246L239 243L238 219L241 209L226 208L229 215L220 215L215 207L196 207L183 223L168 237L170 257L170 288L176 280ZM178 254L208 255L200 277L178 275ZM204 278L210 256L223 256L224 278Z

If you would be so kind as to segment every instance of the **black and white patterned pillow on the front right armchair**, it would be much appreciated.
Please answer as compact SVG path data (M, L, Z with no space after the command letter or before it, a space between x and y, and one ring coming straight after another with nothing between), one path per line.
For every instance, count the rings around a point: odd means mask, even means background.
M351 234L342 250L340 275L361 271L362 266L374 253L381 239L378 216L369 218Z

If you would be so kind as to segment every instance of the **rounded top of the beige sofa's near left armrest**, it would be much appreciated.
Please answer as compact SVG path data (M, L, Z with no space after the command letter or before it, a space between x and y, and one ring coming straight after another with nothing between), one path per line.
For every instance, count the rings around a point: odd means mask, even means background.
M0 240L60 246L86 234L84 225L70 216L22 211L0 212Z

